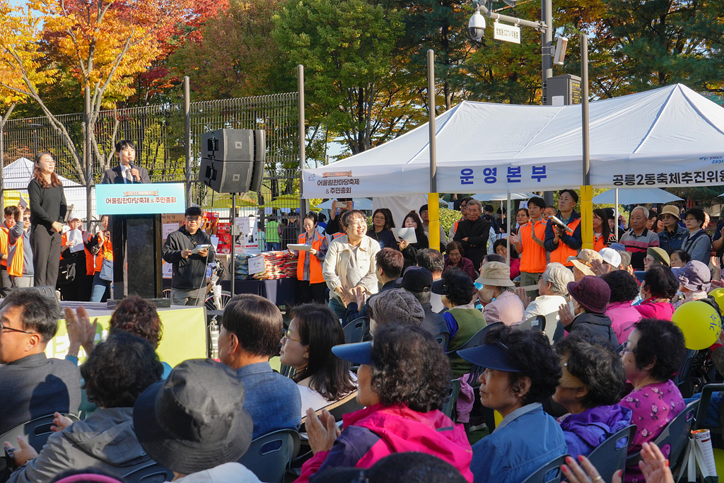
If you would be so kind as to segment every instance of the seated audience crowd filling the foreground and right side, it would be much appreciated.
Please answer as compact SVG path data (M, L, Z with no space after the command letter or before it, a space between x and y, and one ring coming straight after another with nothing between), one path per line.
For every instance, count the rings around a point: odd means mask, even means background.
M361 211L335 213L344 234L320 262L329 304L292 307L285 320L268 299L236 295L221 318L218 361L160 361L161 319L138 297L117 306L98 343L96 322L67 308L68 355L47 358L57 306L14 290L0 306L0 434L41 416L54 424L42 449L3 441L13 464L0 482L80 473L132 482L157 463L177 482L253 483L245 453L282 429L302 432L309 448L290 470L296 482L522 483L564 455L596 482L578 457L631 425L628 453L643 462L624 481L669 471L650 443L686 407L673 379L687 348L671 320L678 306L714 303L708 292L723 285L701 260L699 211L665 206L652 219L636 207L616 240L613 217L596 210L595 249L582 249L578 195L563 190L551 211L567 229L547 221L536 197L518 211L515 235L488 253L502 220L463 201L449 243L441 233L447 256L428 248L426 206L403 221L416 243L387 233L387 211L369 231ZM366 331L345 343L348 324L365 319ZM711 357L724 370L721 347ZM566 462L569 481L583 481Z

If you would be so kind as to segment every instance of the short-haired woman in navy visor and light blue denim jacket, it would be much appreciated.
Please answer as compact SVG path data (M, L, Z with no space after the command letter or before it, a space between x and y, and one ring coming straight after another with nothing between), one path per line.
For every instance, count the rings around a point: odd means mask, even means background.
M495 431L473 445L475 483L523 482L541 466L568 453L559 424L542 402L556 391L560 358L540 332L490 329L483 344L460 350L480 375L480 402L502 416Z

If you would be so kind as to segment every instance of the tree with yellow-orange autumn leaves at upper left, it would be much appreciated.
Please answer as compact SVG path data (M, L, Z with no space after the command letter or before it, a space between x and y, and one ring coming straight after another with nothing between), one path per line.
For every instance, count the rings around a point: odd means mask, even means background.
M90 151L101 166L109 163L98 149L92 126L103 107L132 93L135 75L159 56L157 33L175 25L181 0L31 0L14 7L0 0L0 90L6 102L30 101L40 107L62 135L72 166L87 186L92 173L83 166L82 149L49 109L42 88L59 80L59 67L81 88L90 88Z

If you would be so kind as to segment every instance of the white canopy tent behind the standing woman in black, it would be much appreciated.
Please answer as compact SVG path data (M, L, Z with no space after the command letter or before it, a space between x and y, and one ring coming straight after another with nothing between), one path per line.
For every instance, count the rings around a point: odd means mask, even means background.
M3 176L3 188L5 206L9 204L17 203L18 193L22 193L22 197L25 200L28 199L28 183L30 178L33 176L33 161L28 158L18 158L12 163L8 164L2 170ZM68 203L68 208L72 205L72 216L83 219L85 222L86 214L88 213L88 203L85 197L85 186L80 185L75 181L69 180L67 177L58 175L60 181L63 183L63 190L65 193L65 201ZM92 204L96 206L96 190L93 188L91 193ZM91 211L91 215L96 217L96 211Z

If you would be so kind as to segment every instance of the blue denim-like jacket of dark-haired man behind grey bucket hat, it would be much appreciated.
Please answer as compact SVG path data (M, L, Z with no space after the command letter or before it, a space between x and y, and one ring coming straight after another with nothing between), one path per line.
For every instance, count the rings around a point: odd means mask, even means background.
M252 439L277 429L299 429L302 398L297 383L271 370L268 362L237 369L244 383L244 409L254 423Z

